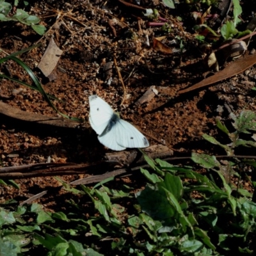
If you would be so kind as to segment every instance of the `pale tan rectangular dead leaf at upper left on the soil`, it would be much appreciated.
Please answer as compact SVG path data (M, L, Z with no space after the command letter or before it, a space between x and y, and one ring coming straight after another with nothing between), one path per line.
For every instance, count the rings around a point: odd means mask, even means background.
M54 40L51 38L49 45L40 61L38 68L43 72L43 74L48 77L52 70L56 67L62 50L55 44Z

